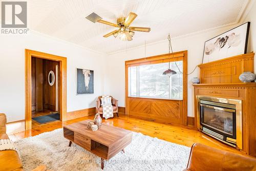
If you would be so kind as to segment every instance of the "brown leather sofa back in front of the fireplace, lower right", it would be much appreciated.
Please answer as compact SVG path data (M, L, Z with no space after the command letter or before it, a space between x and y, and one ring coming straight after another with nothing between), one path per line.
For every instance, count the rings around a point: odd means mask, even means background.
M191 147L187 168L183 171L255 171L256 159L200 143Z

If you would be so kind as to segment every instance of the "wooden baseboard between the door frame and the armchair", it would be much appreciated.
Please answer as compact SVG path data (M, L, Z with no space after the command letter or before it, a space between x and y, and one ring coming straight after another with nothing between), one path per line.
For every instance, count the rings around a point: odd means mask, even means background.
M94 108L88 108L88 109L82 109L82 110L78 110L78 111L68 112L67 113L67 120L81 118L81 117L84 117L84 116L89 116L89 115L96 114L95 110L96 110L96 108L94 107Z

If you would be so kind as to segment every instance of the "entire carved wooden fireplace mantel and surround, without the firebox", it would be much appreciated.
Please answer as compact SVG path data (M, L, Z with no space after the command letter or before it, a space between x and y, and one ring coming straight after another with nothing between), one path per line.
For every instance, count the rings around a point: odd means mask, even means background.
M254 53L238 55L200 65L200 80L195 88L195 127L200 130L199 102L197 96L220 97L242 100L242 136L237 148L248 155L256 156L256 83L242 83L239 75L245 71L253 72ZM208 75L207 75L208 74ZM208 77L207 77L208 76ZM215 83L213 83L215 82ZM226 83L223 83L226 82Z

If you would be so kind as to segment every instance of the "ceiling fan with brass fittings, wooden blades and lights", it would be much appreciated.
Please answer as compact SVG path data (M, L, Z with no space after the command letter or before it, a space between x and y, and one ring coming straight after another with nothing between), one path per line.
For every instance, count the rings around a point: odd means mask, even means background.
M113 35L115 38L119 37L123 41L131 41L133 39L132 37L135 34L134 31L150 32L149 27L130 27L130 25L132 24L133 20L136 17L137 17L137 14L135 14L134 12L130 12L126 18L125 17L117 18L117 24L106 22L105 20L102 20L102 17L100 17L99 15L97 15L94 12L91 13L90 15L88 15L86 18L93 23L98 22L98 23L102 23L105 25L118 27L117 30L112 31L112 32L104 35L103 37L109 37L109 36Z

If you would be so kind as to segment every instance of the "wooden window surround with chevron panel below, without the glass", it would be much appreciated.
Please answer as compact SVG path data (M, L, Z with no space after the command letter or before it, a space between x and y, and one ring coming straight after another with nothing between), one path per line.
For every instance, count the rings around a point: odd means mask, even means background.
M128 69L133 66L183 61L183 99L129 97ZM125 61L125 114L154 121L187 125L187 51Z

